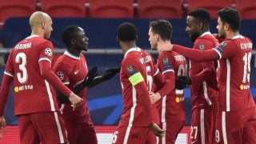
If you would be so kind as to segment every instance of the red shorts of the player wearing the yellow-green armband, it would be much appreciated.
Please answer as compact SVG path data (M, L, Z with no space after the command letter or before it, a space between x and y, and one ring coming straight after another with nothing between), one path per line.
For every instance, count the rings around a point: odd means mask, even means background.
M114 132L113 144L155 144L157 137L149 127L118 127Z

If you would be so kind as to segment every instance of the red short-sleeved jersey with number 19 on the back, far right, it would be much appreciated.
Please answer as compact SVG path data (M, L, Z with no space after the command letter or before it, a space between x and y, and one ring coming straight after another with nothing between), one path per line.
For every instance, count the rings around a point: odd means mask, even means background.
M242 35L227 38L214 50L219 54L219 105L223 111L255 106L250 93L250 59L253 44Z

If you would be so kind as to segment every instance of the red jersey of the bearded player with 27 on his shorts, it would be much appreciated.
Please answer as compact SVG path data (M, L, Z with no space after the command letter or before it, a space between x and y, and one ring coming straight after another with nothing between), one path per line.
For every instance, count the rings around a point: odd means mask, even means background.
M194 42L193 49L209 50L218 46L218 40L210 32L206 32L198 37ZM197 80L190 86L192 107L211 106L211 98L218 96L217 76L215 69L217 62L196 62L190 60L190 78Z

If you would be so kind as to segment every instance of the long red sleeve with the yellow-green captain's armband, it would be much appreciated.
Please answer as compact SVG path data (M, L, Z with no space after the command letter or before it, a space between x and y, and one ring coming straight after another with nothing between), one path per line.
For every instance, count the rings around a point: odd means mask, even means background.
M142 75L146 74L146 71L143 70L142 64L134 58L126 59L125 62L122 62L122 71L129 79L130 84L134 86L147 118L150 118L150 122L153 124L154 117L151 110L150 95L145 82L145 75Z

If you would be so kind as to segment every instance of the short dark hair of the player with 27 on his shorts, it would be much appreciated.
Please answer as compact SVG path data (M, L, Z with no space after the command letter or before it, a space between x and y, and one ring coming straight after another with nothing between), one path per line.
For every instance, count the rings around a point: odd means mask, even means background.
M205 24L210 22L210 13L203 8L192 10L187 15L196 18L198 22L202 22Z

